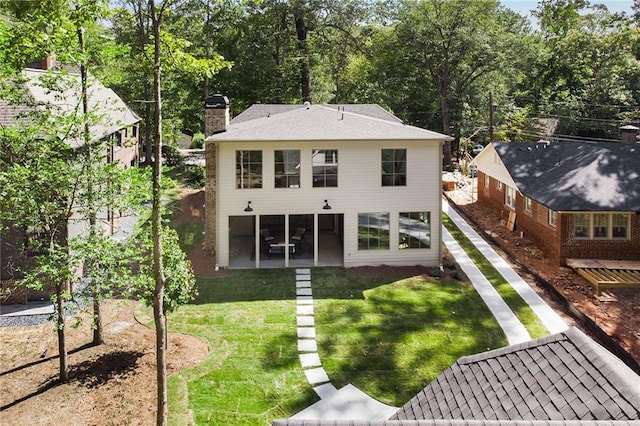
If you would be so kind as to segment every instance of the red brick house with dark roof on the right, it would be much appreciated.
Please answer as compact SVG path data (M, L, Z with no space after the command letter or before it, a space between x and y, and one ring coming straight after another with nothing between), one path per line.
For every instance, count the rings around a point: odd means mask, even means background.
M635 128L637 130L637 128ZM478 203L567 259L640 260L640 144L493 142L473 160ZM515 215L515 216L514 216Z

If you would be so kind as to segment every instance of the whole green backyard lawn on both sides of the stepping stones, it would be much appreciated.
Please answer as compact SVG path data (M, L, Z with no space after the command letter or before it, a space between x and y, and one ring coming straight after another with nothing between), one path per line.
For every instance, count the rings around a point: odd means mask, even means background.
M295 272L198 279L170 330L205 339L201 364L169 378L171 424L268 425L317 400L296 345ZM400 405L460 356L506 345L467 284L312 270L319 354L332 382Z

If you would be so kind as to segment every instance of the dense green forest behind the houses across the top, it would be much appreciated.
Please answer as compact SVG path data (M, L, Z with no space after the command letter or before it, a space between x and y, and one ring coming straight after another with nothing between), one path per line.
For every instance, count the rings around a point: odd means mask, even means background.
M86 39L91 72L143 118L150 162L148 7L110 2ZM639 22L640 0L628 13L542 0L531 17L494 0L168 2L163 49L181 66L163 70L165 144L202 140L214 93L232 116L254 103L379 104L456 137L445 164L460 140L619 140L620 126L640 125ZM192 58L226 66L194 72Z

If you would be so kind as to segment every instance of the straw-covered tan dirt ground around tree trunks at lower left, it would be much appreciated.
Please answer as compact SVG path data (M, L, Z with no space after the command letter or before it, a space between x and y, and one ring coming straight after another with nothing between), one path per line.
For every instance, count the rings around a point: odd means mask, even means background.
M103 306L105 340L92 339L90 317L69 328L70 381L57 384L57 338L51 323L0 328L0 424L155 424L155 333L134 318L137 302ZM171 334L169 373L200 362L206 342Z

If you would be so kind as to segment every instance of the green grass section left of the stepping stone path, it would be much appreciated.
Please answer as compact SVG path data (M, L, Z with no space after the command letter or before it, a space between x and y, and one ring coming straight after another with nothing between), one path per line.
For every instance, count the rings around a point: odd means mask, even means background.
M196 424L268 425L317 399L298 359L293 270L230 271L198 279L198 290L170 329L206 339L210 354L169 379L186 389ZM172 418L186 418L173 414L186 410L183 393L169 400Z

